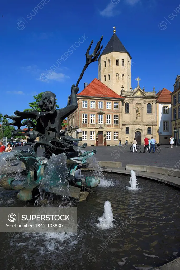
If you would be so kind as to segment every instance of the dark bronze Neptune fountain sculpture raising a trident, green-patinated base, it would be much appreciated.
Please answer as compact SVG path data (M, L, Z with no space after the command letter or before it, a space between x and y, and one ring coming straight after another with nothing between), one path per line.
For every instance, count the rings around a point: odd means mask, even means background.
M14 175L8 176L2 172L0 176L0 187L6 190L20 190L17 195L20 200L28 201L34 198L34 193L40 186L44 192L58 195L62 195L62 190L70 186L70 197L78 197L81 201L81 193L83 193L82 200L85 200L91 188L99 184L100 179L98 177L87 176L85 179L81 179L79 178L80 174L75 174L77 169L79 170L86 166L87 159L92 157L96 153L96 150L81 151L87 144L84 143L84 145L78 146L79 141L82 141L82 139L75 139L72 136L68 136L65 131L61 131L61 124L66 117L78 108L76 98L76 94L79 91L78 84L89 64L98 59L102 49L102 45L100 47L102 39L103 36L98 41L94 52L90 55L89 50L91 49L93 40L91 41L85 54L85 66L76 86L72 85L71 87L71 95L68 97L66 107L57 110L55 94L44 92L41 101L38 103L41 112L16 111L14 113L15 116L5 115L6 118L13 120L8 125L18 127L18 129L12 132L12 137L26 135L28 136L28 145L32 146L32 149L15 150L11 156L7 156L6 158L9 161L18 160L24 163L24 170L19 176L18 184L15 184ZM31 119L37 121L36 125ZM21 123L23 120L25 121ZM26 131L20 128L25 125L28 128ZM39 137L40 141L35 141L36 137ZM37 149L42 145L45 151L43 156L38 157ZM58 157L59 155L61 157ZM66 177L62 175L60 177L58 173L58 167L62 160L66 164ZM53 162L55 163L54 165L52 164ZM78 177L76 178L76 176Z

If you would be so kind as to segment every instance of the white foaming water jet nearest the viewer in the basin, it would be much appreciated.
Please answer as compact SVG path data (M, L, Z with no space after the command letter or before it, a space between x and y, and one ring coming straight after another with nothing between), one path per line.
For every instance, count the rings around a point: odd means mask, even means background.
M115 225L113 222L115 219L113 218L113 212L111 208L110 201L105 201L104 203L104 213L102 217L99 218L99 224L96 224L98 228L107 230L113 228Z

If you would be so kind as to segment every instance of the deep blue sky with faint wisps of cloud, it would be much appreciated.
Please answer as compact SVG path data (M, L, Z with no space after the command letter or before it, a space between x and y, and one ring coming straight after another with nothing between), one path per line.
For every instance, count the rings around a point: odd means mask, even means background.
M156 91L159 87L173 91L180 74L179 22L179 0L3 1L0 112L11 115L24 110L33 95L48 90L64 107L71 85L76 84L84 67L89 43L93 39L95 45L104 35L105 48L114 25L132 56L132 87L136 87L139 76L145 91L154 86ZM65 56L68 50L69 56ZM52 70L54 64L57 68ZM95 77L97 62L86 70L80 91L84 82L90 83Z

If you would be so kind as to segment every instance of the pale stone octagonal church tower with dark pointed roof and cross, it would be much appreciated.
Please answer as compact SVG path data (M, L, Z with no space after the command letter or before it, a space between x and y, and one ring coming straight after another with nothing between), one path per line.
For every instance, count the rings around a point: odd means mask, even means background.
M131 55L114 34L98 59L98 79L121 95L122 86L125 91L131 89Z

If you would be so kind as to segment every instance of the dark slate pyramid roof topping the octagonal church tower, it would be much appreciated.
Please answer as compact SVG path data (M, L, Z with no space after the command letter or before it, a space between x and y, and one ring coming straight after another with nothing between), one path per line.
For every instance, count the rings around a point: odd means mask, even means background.
M105 55L110 52L127 52L124 45L121 43L121 41L118 39L116 33L112 35L111 39L109 40L108 44L106 45L105 49L101 53L101 55ZM129 53L128 53L129 54ZM131 55L129 55L131 57Z

